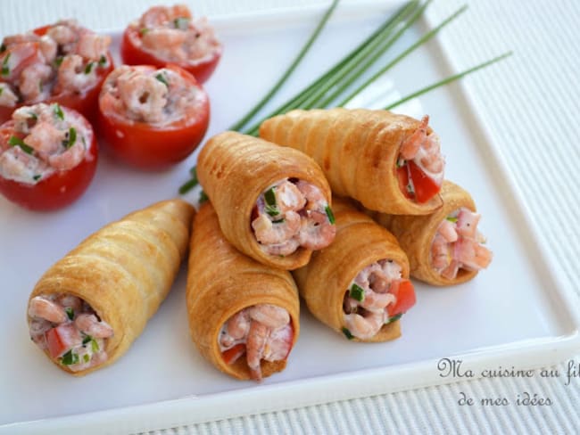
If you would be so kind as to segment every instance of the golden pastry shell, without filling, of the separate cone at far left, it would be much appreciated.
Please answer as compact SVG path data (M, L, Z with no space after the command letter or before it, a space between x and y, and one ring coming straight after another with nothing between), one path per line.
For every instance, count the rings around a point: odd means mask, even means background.
M102 365L72 372L84 375L122 356L170 291L184 259L195 209L185 201L157 202L91 234L50 267L35 296L69 293L85 300L112 326ZM30 319L29 319L30 320Z

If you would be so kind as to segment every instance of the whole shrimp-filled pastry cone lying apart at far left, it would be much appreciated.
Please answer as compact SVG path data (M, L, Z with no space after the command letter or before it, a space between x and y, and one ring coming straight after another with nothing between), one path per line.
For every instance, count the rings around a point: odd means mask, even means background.
M170 291L194 213L180 200L130 213L42 275L29 297L29 331L54 365L84 375L128 350Z

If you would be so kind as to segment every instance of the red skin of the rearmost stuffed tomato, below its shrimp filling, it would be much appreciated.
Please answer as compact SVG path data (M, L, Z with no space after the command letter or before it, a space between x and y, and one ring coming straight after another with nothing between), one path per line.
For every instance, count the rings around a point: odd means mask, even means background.
M152 53L145 52L145 50L133 44L132 37L137 36L137 30L128 27L123 32L123 37L120 41L120 58L123 63L127 65L153 65L157 68L164 67L168 62L156 57ZM180 68L189 72L198 83L204 83L218 66L220 62L222 48L216 51L210 59L205 62L197 62L195 64L179 62L176 63Z

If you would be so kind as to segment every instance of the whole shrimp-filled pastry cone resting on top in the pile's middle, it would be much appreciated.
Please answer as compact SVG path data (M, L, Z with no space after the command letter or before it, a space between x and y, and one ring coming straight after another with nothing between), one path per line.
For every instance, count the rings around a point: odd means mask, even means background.
M301 267L334 238L330 187L303 152L224 132L203 146L197 176L228 242L264 265Z

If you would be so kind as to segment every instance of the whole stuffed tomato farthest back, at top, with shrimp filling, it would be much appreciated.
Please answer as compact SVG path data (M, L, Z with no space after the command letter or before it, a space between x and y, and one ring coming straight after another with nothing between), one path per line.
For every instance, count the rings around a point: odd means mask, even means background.
M120 44L121 58L128 65L175 63L199 83L210 78L221 51L207 21L194 20L183 4L152 7L128 25Z

